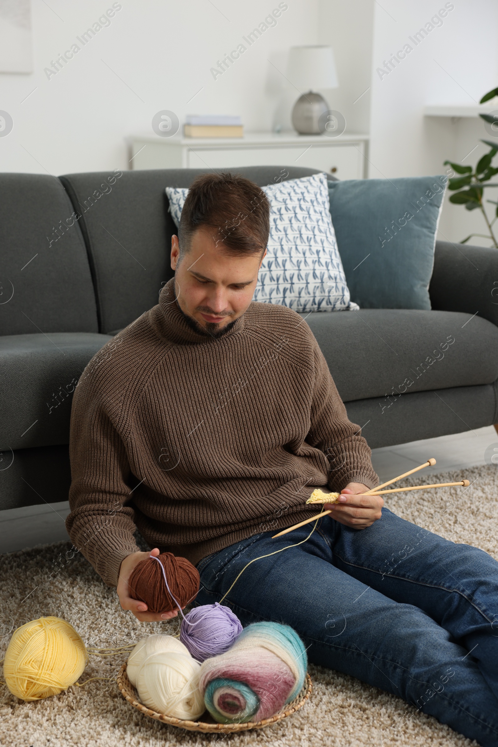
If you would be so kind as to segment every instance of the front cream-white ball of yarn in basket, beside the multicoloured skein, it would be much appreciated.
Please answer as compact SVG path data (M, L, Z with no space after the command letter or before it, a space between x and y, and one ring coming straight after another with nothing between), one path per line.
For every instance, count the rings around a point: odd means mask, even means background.
M199 689L200 669L201 665L188 651L150 654L138 670L140 700L158 713L195 721L205 711L204 696Z

